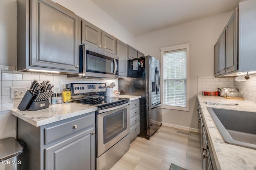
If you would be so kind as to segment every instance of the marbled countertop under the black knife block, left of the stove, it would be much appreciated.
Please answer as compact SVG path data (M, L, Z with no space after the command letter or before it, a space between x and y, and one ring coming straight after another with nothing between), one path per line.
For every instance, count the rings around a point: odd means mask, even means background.
M66 103L52 105L47 109L37 111L20 111L19 109L13 109L12 114L38 127L96 110L97 107L95 106Z

